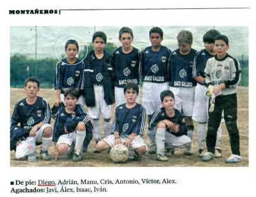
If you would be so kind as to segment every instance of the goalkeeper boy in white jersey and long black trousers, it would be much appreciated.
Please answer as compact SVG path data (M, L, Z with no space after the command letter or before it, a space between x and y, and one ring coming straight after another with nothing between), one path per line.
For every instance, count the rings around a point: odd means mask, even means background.
M206 137L207 153L202 161L214 159L215 143L218 127L220 127L221 114L227 126L232 155L225 162L236 163L241 161L239 146L239 130L237 129L237 85L241 77L239 61L227 51L228 38L218 35L214 38L216 56L208 59L205 67L205 83L208 86L208 95L211 96L212 106L209 111L209 122Z

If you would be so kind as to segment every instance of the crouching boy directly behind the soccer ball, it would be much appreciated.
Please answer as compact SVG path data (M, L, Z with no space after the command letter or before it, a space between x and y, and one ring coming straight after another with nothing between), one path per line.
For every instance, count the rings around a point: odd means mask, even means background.
M138 84L125 85L124 95L127 102L116 107L113 134L97 143L98 151L108 150L113 145L122 143L128 148L134 148L134 160L140 160L141 154L147 152L147 145L142 139L146 114L145 108L136 103L138 93Z

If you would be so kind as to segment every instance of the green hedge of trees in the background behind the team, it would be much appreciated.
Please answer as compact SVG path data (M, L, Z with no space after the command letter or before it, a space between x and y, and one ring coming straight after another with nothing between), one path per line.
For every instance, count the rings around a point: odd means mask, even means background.
M111 54L116 49L114 43L107 43L105 50ZM92 51L92 44L88 45L88 51ZM79 59L83 59L87 53L86 47L79 51ZM65 53L61 54L65 58ZM248 86L248 59L242 56L238 59L241 64L240 86ZM26 55L14 54L10 58L10 87L23 88L24 81L28 77L35 76L40 80L40 88L54 88L54 76L58 58L29 59Z

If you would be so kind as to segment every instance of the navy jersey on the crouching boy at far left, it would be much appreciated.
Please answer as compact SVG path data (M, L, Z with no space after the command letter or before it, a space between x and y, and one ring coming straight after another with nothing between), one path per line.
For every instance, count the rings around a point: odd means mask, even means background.
M51 124L51 109L47 100L37 97L35 104L32 105L29 105L26 99L17 102L12 114L11 130L20 123L20 127L29 132L40 122Z

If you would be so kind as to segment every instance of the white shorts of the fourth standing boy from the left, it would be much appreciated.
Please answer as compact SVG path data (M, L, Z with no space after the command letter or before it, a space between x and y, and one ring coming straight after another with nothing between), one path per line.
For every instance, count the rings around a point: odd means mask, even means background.
M147 114L151 115L161 107L160 93L164 90L168 90L168 82L143 82L142 104Z

